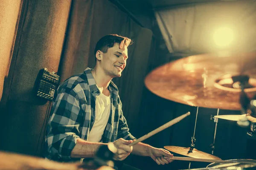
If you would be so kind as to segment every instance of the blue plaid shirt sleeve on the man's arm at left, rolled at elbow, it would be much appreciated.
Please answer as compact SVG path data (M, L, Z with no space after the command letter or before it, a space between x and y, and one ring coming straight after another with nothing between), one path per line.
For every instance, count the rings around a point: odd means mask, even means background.
M47 127L47 144L50 159L70 160L70 154L79 138L83 111L73 89L61 88L52 106Z

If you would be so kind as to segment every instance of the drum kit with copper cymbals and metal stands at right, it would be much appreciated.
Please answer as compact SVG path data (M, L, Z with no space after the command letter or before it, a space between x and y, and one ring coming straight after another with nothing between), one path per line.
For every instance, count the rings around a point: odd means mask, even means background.
M216 108L215 133L218 119L236 121L241 127L250 125L249 136L256 132L256 51L239 53L220 51L169 62L151 71L145 86L153 94L185 105ZM219 109L241 111L241 115L219 115ZM197 122L198 109L195 119ZM221 160L212 154L195 149L195 130L190 147L165 146L172 153L187 157L175 160L212 162L196 170L256 169L256 160ZM179 159L177 159L179 158ZM212 161L211 161L212 160ZM190 163L189 163L190 169Z

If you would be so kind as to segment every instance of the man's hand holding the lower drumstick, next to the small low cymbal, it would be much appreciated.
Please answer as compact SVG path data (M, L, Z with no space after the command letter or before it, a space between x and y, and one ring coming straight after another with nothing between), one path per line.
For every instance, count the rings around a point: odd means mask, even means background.
M172 159L169 159L173 156L172 153L170 153L168 150L152 147L149 153L149 156L157 162L157 164L169 164L172 162Z

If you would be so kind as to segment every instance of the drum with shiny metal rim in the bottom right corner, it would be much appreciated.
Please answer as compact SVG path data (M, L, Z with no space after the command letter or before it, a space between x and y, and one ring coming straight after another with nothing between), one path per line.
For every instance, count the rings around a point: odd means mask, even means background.
M217 170L256 170L256 160L230 159L227 163L211 163L207 169Z

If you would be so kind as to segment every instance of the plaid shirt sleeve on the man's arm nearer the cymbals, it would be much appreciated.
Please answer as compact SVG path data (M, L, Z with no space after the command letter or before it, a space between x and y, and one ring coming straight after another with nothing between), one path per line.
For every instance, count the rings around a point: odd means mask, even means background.
M125 116L123 115L122 112L122 102L120 101L120 103L117 105L120 113L119 116L119 122L118 122L118 131L117 131L117 139L119 138L123 138L125 140L133 140L136 139L134 136L131 135L131 133L129 132L129 128L125 119Z

